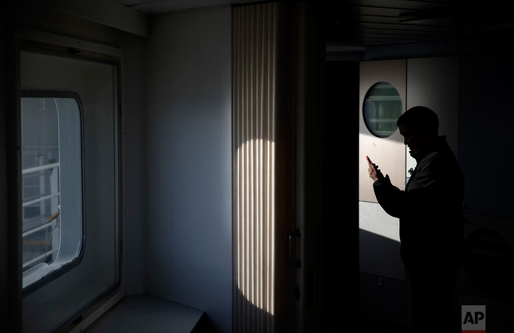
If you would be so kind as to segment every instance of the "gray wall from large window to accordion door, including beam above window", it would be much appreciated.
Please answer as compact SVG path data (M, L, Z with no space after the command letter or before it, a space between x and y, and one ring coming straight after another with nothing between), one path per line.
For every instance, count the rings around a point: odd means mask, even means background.
M230 331L230 7L156 16L148 41L48 8L26 7L12 21L123 49L125 290L204 310Z

